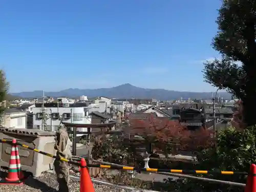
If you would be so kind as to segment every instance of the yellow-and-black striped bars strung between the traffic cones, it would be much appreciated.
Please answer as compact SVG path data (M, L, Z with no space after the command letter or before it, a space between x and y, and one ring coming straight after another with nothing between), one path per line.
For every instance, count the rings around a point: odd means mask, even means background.
M9 143L12 144L11 140L6 140L6 139L0 139L0 143ZM81 166L80 163L77 161L70 161L65 158L59 158L55 155L42 152L37 150L36 148L29 147L28 145L24 145L22 143L16 143L19 146L28 148L29 150L32 150L34 152L40 153L42 155L46 155L48 157L52 157L55 159L58 159L60 161L68 162L70 164L83 167ZM226 170L184 170L184 169L161 169L161 168L137 168L137 167L131 167L131 166L122 166L122 165L103 165L103 164L87 164L87 167L98 167L98 168L108 168L108 169L119 169L119 170L135 170L137 172L165 172L165 173L176 173L176 174L200 174L200 175L205 175L205 174L222 174L222 175L247 175L247 172L230 172Z

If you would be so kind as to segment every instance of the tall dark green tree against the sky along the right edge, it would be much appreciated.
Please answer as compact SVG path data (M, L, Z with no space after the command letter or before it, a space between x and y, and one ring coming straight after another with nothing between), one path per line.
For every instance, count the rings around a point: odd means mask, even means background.
M204 63L205 81L243 101L243 120L256 124L256 0L222 0L212 47L222 58ZM238 65L238 61L242 65Z

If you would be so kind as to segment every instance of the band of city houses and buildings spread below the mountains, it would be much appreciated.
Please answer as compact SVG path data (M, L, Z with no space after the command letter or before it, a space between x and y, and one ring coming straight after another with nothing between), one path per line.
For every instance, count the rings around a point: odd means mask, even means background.
M217 122L232 119L234 103L237 99L224 100L223 97L216 97L214 102ZM127 116L133 116L133 118L143 116L139 114L156 114L157 117L180 120L183 124L189 125L187 121L180 119L181 114L184 118L184 114L189 111L197 114L195 118L199 117L200 112L205 118L204 123L210 127L208 122L212 121L213 99L188 98L186 100L181 97L179 100L160 101L157 99L111 99L103 96L88 98L82 95L77 99L45 97L44 100L42 98L17 99L8 103L9 106L6 106L6 103L1 104L7 108L6 113L1 117L2 126L54 132L62 122L98 124L115 121L120 123ZM203 110L199 106L203 106ZM190 122L194 120L190 119ZM201 121L197 120L194 125L200 123ZM87 132L90 129L90 127L78 127L77 131Z

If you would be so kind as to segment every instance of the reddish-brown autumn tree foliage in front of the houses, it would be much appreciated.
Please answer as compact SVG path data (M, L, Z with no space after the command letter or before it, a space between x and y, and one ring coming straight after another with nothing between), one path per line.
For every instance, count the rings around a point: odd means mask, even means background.
M212 133L203 128L190 131L179 121L164 117L150 116L149 118L130 119L130 128L126 133L137 135L144 140L154 143L156 148L168 148L170 153L182 151L198 151L211 146L214 141Z

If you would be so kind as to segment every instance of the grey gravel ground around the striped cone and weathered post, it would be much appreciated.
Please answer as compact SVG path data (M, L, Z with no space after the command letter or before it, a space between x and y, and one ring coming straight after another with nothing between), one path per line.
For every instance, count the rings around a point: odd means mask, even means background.
M6 177L6 170L0 169L1 178ZM79 182L70 181L69 191L79 192ZM0 191L5 192L54 192L58 189L58 183L56 177L51 173L44 173L39 178L33 178L30 176L25 180L24 185L0 185ZM125 192L123 189L117 189L110 186L94 184L95 192L108 191L108 192Z

